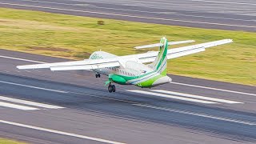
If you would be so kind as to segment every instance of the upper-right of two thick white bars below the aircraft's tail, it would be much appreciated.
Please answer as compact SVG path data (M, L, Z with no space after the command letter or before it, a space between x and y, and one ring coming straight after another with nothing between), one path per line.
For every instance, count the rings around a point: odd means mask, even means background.
M204 99L204 100L209 100L209 101L214 101L214 102L224 102L224 103L230 103L230 104L243 103L243 102L230 101L230 100L220 99L220 98L210 98L210 97L204 97L204 96L194 95L194 94L178 93L178 92L167 91L167 90L151 90L151 91L158 92L158 93L164 93L164 94L174 94L174 95L179 95L179 96L188 97L188 98Z

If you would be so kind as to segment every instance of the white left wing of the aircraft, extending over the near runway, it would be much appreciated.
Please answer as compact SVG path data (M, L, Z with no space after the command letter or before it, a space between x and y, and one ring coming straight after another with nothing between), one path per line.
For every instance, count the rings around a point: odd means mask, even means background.
M18 69L45 69L50 70L93 70L103 67L115 67L120 66L120 63L116 58L104 58L104 59L86 59L83 61L74 62L55 62L46 64L35 64L17 66Z

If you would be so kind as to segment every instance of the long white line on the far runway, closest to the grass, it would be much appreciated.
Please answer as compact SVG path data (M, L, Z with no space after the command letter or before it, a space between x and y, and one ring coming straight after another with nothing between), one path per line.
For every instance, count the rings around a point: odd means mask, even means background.
M197 22L197 21L170 19L170 18L143 17L143 16L136 16L136 15L129 15L129 14L112 14L112 13L103 13L103 12L86 11L86 10L71 10L71 9L63 9L63 8L56 8L56 7L22 5L22 4L6 3L6 2L0 2L0 4L10 5L10 6L26 6L26 7L49 9L49 10L66 10L66 11L74 11L74 12L82 12L82 13L90 13L90 14L105 14L105 15L114 15L114 16L128 17L128 18L145 18L145 19L173 21L173 22L201 23L201 24L217 25L217 26L236 26L236 27L247 27L247 28L255 28L256 27L256 26L232 25L232 24L214 23L214 22Z

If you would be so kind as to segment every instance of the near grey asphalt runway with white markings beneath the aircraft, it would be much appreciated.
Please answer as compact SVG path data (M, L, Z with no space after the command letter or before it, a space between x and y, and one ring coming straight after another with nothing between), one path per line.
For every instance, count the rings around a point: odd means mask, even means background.
M17 70L65 59L0 50L0 137L32 143L254 143L256 89L170 75L154 89L90 71Z

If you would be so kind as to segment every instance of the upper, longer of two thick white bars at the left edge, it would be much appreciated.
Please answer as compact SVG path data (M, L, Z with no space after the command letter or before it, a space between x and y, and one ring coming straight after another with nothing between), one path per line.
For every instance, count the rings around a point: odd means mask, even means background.
M43 108L47 108L47 109L62 109L62 108L64 108L62 106L53 106L53 105L48 105L48 104L44 104L44 103L25 101L25 100L17 99L17 98L8 98L8 97L4 97L4 96L0 96L0 100L21 103L21 104L30 105L30 106L38 106L38 107L43 107Z

